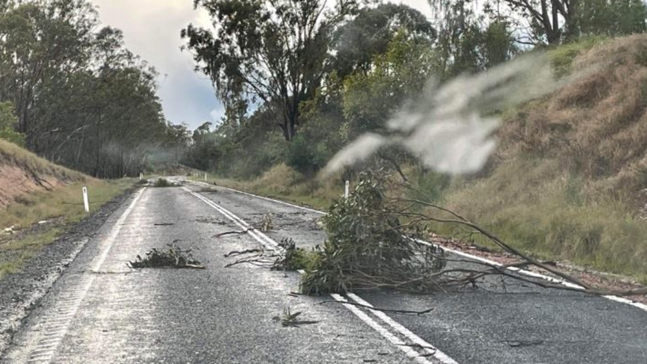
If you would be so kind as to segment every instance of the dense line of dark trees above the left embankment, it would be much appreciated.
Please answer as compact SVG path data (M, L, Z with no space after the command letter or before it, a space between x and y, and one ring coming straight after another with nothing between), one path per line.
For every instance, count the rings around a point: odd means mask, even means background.
M164 119L156 78L87 0L0 2L4 139L92 176L138 174L186 135Z

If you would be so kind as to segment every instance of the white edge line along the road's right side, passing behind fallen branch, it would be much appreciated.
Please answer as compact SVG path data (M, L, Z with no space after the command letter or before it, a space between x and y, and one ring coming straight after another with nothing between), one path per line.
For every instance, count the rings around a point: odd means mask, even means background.
M202 182L196 182L196 183L202 183ZM205 185L207 185L206 183L204 183L204 184L205 184ZM210 186L210 187L214 187L213 185L209 185L209 186ZM307 207L303 207L303 206L299 206L299 205L294 205L294 204L292 204L292 203L287 203L287 202L284 202L284 201L279 201L278 199L267 198L267 197L258 196L258 195L255 195L255 194L250 194L250 193L248 193L248 192L243 192L243 191L239 191L239 190L234 190L233 188L226 188L226 187L220 187L220 186L215 186L215 187L216 187L216 188L222 188L223 190L228 190L228 191L231 191L231 192L237 192L237 193L239 193L239 194L245 194L245 195L247 195L247 196L253 196L253 197L256 197L256 198L265 199L265 200L267 200L267 201L272 201L272 202L280 203L281 205L287 205L287 206L291 206L291 207L296 207L297 209L302 209L302 210L306 210L306 211L310 211L310 212L315 212L315 213L317 213L317 214L322 214L322 215L327 214L326 212L323 212L323 211L320 211L320 210L313 210L313 209L309 209L309 208L307 208ZM435 246L435 244L430 243L430 242L426 242L426 241L424 241L424 240L418 240L418 242L421 242L422 244L429 244L429 245L434 245L434 246ZM485 264L490 264L490 265L492 265L492 266L502 266L502 265L503 265L503 264L500 264L499 262L495 262L494 260L489 260L489 259L487 259L487 258L482 258L481 256L472 255L472 254L470 254L470 253L464 253L463 251L459 251L459 250L455 250L455 249L450 249L450 248L447 248L447 247L443 247L443 250L444 250L444 251L448 251L448 252L450 252L450 253L453 253L453 254L455 254L455 255L463 256L463 257L465 257L465 258L470 258L470 259L472 259L472 260L477 260L477 261L479 261L479 262L483 262L483 263L485 263ZM554 277L549 277L549 276L547 276L547 275L543 275L543 274L541 274L541 273L535 273L535 272L533 272L533 271L528 271L528 270L525 270L525 269L520 269L520 268L518 268L518 267L507 267L507 268L506 268L506 270L514 271L514 272L516 272L516 273L520 273L520 274L522 274L522 275L526 275L526 276L528 276L528 277L534 277L534 278L539 278L539 279L543 279L543 280L548 280L549 282L554 282L554 283L562 284L562 285L564 285L565 287L575 288L576 290L584 290L584 287L579 286L578 284L573 284L573 283L571 283L571 282L566 282L565 280L562 280L562 279L556 279L556 278L554 278ZM631 301L630 299L626 299L626 298L624 298L624 297L611 296L611 295L602 296L602 297L604 297L604 298L606 298L606 299L609 299L609 300L611 300L611 301L615 301L615 302L620 302L620 303L629 304L629 305L631 305L631 306L634 306L635 308L639 308L639 309L641 309L641 310L647 311L647 304L643 304L643 303L641 303L641 302L634 302L634 301Z

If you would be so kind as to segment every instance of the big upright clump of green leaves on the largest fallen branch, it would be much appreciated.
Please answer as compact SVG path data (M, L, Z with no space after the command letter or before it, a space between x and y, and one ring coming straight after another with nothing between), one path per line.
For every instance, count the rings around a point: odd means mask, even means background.
M323 218L328 238L303 275L303 293L437 287L431 277L444 267L442 249L417 240L425 229L405 222L385 190L384 176L364 173L348 198L333 203Z

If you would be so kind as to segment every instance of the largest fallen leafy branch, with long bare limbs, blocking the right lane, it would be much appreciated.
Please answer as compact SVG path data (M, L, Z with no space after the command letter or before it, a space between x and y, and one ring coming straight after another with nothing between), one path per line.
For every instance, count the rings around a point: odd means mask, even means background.
M495 234L468 221L450 209L420 199L390 198L385 179L362 176L355 191L340 199L325 216L327 241L316 251L316 264L306 271L302 290L309 294L345 293L354 290L444 291L465 286L509 284L512 280L542 288L580 291L592 295L644 295L647 288L609 290L587 284L552 262L529 256ZM427 207L438 216L417 212ZM485 236L507 252L514 262L488 263L454 258L439 245L424 242L430 223L465 227L471 234ZM451 265L451 266L450 266ZM534 268L533 268L534 267ZM524 275L520 269L541 271L551 279Z

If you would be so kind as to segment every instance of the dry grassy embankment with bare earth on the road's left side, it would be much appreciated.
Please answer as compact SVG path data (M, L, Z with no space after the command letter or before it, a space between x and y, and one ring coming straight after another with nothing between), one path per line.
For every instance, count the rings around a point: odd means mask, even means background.
M19 174L19 171L25 173ZM47 188L35 183L31 172L43 179ZM5 198L15 196L8 205L0 204L0 279L19 271L29 258L45 245L52 244L67 227L87 216L83 209L83 186L88 188L90 209L94 211L136 181L128 178L102 181L85 176L0 140L0 174L3 173L0 192ZM12 176L8 176L9 173ZM21 185L21 191L10 184ZM39 225L42 221L47 223ZM16 234L3 233L3 229L11 226L17 230ZM34 229L30 229L32 227Z

